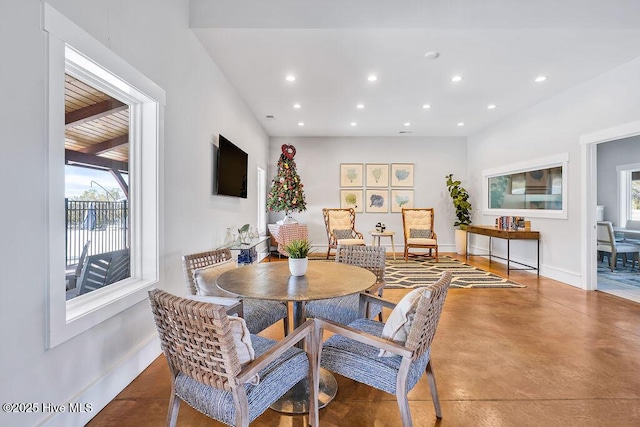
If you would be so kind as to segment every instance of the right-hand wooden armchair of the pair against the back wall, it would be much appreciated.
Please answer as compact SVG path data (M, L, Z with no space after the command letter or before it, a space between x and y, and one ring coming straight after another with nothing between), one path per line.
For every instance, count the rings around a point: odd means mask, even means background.
M402 209L402 228L404 230L404 260L409 259L409 249L429 249L429 256L435 250L438 262L438 236L433 228L433 208Z

